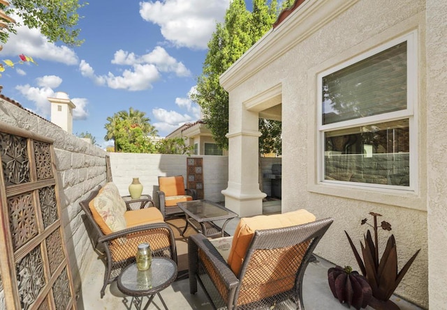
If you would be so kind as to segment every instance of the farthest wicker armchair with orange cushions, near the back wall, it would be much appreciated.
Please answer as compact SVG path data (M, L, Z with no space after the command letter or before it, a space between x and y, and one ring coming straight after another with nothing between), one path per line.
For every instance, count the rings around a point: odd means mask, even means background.
M159 176L159 208L165 219L184 215L177 202L197 199L196 189L184 186L183 176Z

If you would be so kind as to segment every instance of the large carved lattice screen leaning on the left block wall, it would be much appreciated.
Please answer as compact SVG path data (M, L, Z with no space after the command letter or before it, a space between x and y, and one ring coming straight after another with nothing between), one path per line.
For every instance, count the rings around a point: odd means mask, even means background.
M52 140L0 123L0 309L76 309Z

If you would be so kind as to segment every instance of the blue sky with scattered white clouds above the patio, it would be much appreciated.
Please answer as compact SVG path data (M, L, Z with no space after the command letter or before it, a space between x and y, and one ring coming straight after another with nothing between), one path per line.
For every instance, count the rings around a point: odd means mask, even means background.
M73 134L89 132L103 147L112 145L103 139L106 118L129 107L146 112L165 137L200 118L188 94L229 1L91 0L79 10L80 47L48 43L38 29L19 27L0 59L26 54L38 65L6 68L2 93L49 120L47 98L64 91L76 105Z

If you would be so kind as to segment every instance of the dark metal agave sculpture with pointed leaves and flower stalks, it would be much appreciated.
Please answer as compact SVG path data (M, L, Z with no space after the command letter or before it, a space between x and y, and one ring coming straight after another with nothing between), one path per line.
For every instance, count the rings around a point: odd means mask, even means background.
M374 212L369 212L369 215L374 217L374 226L367 223L367 219L363 219L361 224L367 224L374 228L374 241L372 240L371 232L368 229L367 234L364 236L365 245L360 242L362 257L360 257L360 254L358 253L356 246L353 244L351 237L349 237L346 231L344 231L344 233L346 233L346 237L348 237L349 244L351 245L354 256L356 256L356 261L360 271L366 277L372 288L373 298L371 302L369 302L369 305L374 309L399 309L399 307L397 307L397 305L389 299L391 295L393 295L397 286L400 284L400 281L402 281L402 278L406 272L409 270L411 263L413 263L416 256L418 256L420 249L418 249L418 251L411 256L400 272L397 272L396 240L394 235L390 235L390 238L388 238L388 242L386 243L385 251L383 251L382 257L379 261L379 242L377 231L379 227L386 231L390 231L391 225L390 223L383 221L381 222L381 225L378 226L377 217L381 217L382 215Z

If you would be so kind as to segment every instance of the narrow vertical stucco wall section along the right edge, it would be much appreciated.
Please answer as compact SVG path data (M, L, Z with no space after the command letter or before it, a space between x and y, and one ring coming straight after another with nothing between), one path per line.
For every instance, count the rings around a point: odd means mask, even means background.
M447 296L447 1L427 0L428 266L430 309Z

